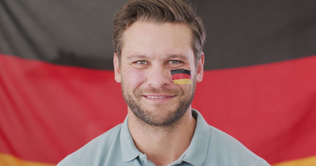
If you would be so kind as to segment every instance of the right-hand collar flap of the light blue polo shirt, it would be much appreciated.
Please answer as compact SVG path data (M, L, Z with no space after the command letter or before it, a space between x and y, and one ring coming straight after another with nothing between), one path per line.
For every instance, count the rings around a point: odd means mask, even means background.
M197 119L197 124L183 161L200 166L206 161L210 142L210 126L197 110L192 109L192 116Z

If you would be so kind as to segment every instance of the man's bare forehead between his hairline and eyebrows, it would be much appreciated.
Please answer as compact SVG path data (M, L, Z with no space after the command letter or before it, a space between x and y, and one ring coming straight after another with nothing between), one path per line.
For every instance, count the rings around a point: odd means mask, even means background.
M192 52L191 31L176 23L156 25L136 22L124 31L121 55L147 58L155 56L188 58ZM142 57L141 57L142 56Z

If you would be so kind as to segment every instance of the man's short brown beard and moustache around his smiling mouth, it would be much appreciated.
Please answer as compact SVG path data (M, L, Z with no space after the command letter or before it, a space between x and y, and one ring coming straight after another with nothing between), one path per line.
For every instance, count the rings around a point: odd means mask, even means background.
M148 87L131 91L124 84L124 81L122 81L121 87L125 102L140 122L151 126L171 127L184 116L190 107L195 93L196 78L194 77L192 86L185 90ZM168 103L151 104L149 107L154 110L150 110L141 102L143 94L164 94L176 96L178 99L177 101L172 100L172 103L168 101Z

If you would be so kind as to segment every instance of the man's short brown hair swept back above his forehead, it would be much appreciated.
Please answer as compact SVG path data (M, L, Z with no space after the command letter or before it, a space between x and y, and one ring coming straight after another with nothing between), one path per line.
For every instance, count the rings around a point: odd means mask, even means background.
M205 43L205 29L202 19L197 16L188 0L130 0L116 14L113 32L113 46L120 62L122 35L126 28L136 21L153 23L185 23L192 33L191 47L195 55L195 66L201 58Z

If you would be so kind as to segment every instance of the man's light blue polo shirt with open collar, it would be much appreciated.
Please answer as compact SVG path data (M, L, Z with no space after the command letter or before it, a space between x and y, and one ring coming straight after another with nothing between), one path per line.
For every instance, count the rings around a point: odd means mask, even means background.
M268 166L269 164L232 136L210 126L202 115L192 109L197 119L190 146L179 159L168 166ZM96 137L64 158L58 166L154 166L140 152L124 123Z

